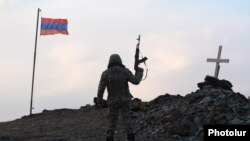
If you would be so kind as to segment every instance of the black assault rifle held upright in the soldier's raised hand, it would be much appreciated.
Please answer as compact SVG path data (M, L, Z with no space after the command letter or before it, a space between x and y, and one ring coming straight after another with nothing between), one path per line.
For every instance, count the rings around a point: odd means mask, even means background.
M142 54L141 54L141 52L140 52L140 41L141 41L141 36L140 36L140 35L139 35L139 37L137 38L137 40L138 40L138 43L137 43L137 45L136 45L136 50L135 50L135 64L134 64L134 70L135 70L135 71L137 71L137 69L138 69L140 63L144 63L145 66L147 67L146 61L147 61L147 59L148 59L147 57L143 57ZM139 53L141 54L142 59L139 59ZM148 73L148 69L146 70L146 76L145 76L144 79L146 79L147 73ZM143 80L144 80L144 79L143 79Z

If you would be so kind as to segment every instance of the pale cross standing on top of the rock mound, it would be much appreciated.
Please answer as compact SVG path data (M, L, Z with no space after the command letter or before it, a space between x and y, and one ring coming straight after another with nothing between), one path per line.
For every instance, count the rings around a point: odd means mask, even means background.
M229 63L229 59L221 59L220 58L221 50L222 50L222 46L219 46L218 56L216 59L207 58L207 62L215 62L216 63L215 72L214 72L215 78L218 78L218 76L219 76L220 63Z

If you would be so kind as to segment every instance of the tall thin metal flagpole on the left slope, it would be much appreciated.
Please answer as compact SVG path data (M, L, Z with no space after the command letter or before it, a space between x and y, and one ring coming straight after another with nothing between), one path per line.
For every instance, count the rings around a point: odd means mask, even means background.
M39 14L41 9L37 10L37 22L36 22L36 38L35 38L35 51L33 59L33 73L32 73L32 86L31 86L31 99L30 99L30 115L32 114L33 109L33 91L34 91L34 78L35 78L35 68L36 68L36 47L37 47L37 34L38 34L38 24L39 24Z

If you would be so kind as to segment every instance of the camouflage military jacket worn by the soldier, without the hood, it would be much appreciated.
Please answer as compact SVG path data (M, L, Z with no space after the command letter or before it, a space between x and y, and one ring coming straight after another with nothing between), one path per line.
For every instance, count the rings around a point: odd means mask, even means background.
M138 85L142 79L143 70L136 71L135 75L132 72L122 66L114 66L102 73L99 86L98 86L98 98L103 98L104 91L107 87L108 105L118 104L130 101L133 96L129 91L128 82Z

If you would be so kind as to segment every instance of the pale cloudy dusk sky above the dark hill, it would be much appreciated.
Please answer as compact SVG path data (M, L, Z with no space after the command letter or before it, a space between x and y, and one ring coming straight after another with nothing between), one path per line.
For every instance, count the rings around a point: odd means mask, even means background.
M92 105L111 54L134 73L139 34L148 76L130 84L134 97L196 91L214 75L215 63L206 59L216 58L220 45L221 58L230 61L221 63L219 78L248 97L249 6L249 0L0 0L0 122L29 115L38 8L41 17L68 19L69 35L38 37L33 113Z

